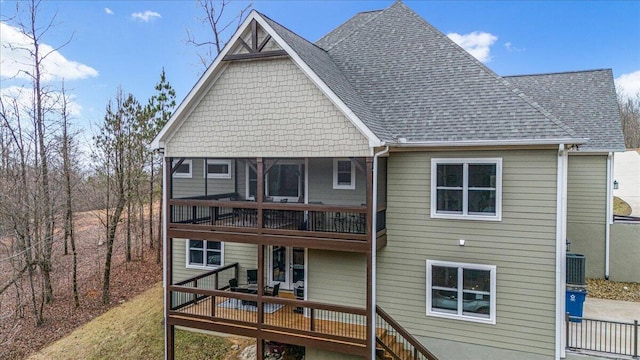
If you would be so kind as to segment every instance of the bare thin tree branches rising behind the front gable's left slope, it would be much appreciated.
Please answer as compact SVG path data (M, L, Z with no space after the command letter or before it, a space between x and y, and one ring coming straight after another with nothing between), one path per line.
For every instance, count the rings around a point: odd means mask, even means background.
M187 44L201 49L198 52L198 58L205 69L211 65L215 57L226 45L228 41L228 39L224 39L226 31L235 31L242 24L246 13L253 7L253 3L249 2L240 9L234 18L223 18L225 10L232 2L232 0L198 0L198 6L204 12L204 16L198 18L198 20L211 31L207 40L196 40L193 32L185 29L187 32ZM235 27L232 27L234 24Z

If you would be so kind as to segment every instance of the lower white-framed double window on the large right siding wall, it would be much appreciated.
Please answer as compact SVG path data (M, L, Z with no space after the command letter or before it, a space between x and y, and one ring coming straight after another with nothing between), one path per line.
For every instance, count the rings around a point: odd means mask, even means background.
M427 316L496 323L496 266L427 260Z

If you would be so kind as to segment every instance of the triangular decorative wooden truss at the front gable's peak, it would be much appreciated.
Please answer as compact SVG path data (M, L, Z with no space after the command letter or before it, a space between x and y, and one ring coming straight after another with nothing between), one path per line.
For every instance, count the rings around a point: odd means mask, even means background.
M263 59L286 55L287 52L273 40L256 19L252 19L250 26L238 37L222 61Z

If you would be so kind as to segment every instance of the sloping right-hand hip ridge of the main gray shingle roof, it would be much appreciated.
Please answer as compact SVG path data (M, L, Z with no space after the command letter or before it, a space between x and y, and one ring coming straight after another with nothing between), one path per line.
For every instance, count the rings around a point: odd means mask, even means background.
M404 3L402 2L396 2L394 3L392 6L402 6L404 7L406 10L408 10L412 16L418 18L420 21L422 21L426 26L428 26L429 28L431 28L433 31L435 31L435 34L437 36L440 36L444 39L446 39L446 41L450 41L453 45L454 48L457 49L457 51L461 52L463 54L463 56L466 56L469 60L471 60L473 63L475 63L481 70L485 71L487 74L489 74L490 76L493 76L494 79L500 83L502 83L508 90L511 90L515 95L517 95L518 97L520 97L522 100L524 100L529 106L533 107L534 109L538 110L543 116L545 116L546 118L548 118L551 122L553 122L554 124L558 125L561 129L563 129L564 131L567 132L568 135L570 136L579 136L578 133L573 130L570 126L568 126L567 124L565 124L563 121L561 121L560 119L558 119L555 115L553 115L553 113L551 113L549 110L545 109L544 107L542 107L540 104L538 104L536 101L534 101L532 98L530 98L529 96L527 96L527 94L525 94L524 92L522 92L521 90L514 88L512 86L511 83L509 83L506 79L504 79L502 76L498 75L495 71L491 70L488 66L484 65L482 62L480 62L478 59L476 59L475 57L473 57L473 55L471 55L468 51L466 51L465 49L462 48L462 46L458 45L455 43L455 41L451 40L447 35L445 35L442 31L438 30L437 28L435 28L433 25L431 25L427 20L425 20L422 16L418 15L415 11L411 10L408 6L406 6Z

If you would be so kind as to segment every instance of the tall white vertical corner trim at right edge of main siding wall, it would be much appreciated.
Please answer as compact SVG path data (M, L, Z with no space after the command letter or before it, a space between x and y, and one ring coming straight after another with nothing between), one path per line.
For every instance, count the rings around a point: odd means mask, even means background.
M565 351L565 297L567 256L567 177L569 155L564 144L558 146L556 189L556 326L555 358L564 358Z

